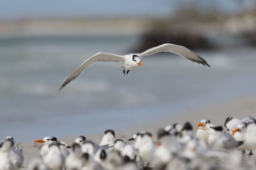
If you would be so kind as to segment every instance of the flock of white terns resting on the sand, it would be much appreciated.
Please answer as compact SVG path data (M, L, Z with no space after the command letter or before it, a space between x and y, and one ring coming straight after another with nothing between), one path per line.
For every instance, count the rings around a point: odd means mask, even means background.
M117 139L106 130L99 144L79 136L72 145L47 136L40 158L30 160L29 170L255 170L256 115L228 117L223 126L203 119L194 133L190 122L160 128L153 136L139 132L130 139ZM242 151L242 156L237 151ZM249 156L245 155L245 151ZM19 144L8 136L0 144L0 170L22 168Z

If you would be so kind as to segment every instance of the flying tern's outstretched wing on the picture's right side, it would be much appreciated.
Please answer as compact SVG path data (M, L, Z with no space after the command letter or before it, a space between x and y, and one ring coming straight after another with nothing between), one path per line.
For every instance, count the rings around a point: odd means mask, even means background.
M183 46L178 46L175 44L162 44L160 46L157 47L153 47L151 49L148 49L142 53L139 54L139 57L145 57L147 55L152 55L158 52L172 52L175 53L181 57L184 57L186 59L189 59L193 62L196 62L198 64L202 64L202 65L206 65L208 67L210 67L210 65L207 63L207 61L205 61L202 57L200 57L198 54L196 54L195 52L187 49L186 47Z

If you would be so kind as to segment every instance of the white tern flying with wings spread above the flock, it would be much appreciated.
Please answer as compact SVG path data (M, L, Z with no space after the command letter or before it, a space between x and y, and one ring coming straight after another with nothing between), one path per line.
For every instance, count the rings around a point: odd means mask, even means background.
M158 52L172 52L183 58L189 59L198 64L202 64L204 66L210 67L206 60L200 57L197 53L179 45L175 44L162 44L157 47L153 47L148 49L142 53L131 53L126 55L117 55L106 52L98 52L95 55L91 56L89 59L84 61L70 76L69 78L61 85L59 90L63 88L65 85L69 84L72 80L75 80L86 68L88 68L91 64L95 62L116 62L120 63L123 67L123 73L128 74L130 70L137 68L138 66L142 66L141 58L152 55Z

